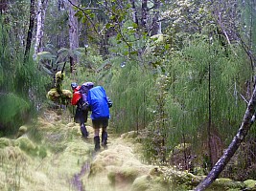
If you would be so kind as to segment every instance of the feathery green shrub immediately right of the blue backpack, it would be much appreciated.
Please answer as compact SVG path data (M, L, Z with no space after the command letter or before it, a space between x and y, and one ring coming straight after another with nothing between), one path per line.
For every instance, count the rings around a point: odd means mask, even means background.
M134 62L127 62L123 68L117 65L111 72L112 78L107 92L113 100L110 112L116 131L145 128L152 115L151 74L143 72Z

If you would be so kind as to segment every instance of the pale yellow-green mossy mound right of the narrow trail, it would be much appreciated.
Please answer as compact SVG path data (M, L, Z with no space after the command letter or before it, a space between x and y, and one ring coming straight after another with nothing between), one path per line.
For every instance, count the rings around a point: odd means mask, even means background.
M85 161L81 171L74 175L73 184L76 190L139 191L136 190L137 178L154 182L154 175L150 175L154 166L141 161L139 154L141 145L134 141L135 134L129 132L118 137L109 134L107 149L102 148L100 152L94 153L90 157L91 160ZM90 144L93 146L93 141L90 141ZM146 184L144 190L165 190L161 182L157 183L157 188L156 183L153 186L150 182Z

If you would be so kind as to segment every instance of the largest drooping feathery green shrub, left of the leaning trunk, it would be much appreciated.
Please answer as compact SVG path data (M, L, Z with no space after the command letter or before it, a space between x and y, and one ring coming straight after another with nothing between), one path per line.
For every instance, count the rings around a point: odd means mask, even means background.
M202 165L200 157L213 152L208 150L208 132L216 138L212 141L219 150L212 155L217 159L237 132L234 126L240 124L245 106L240 95L245 95L244 81L251 74L250 66L241 64L245 58L238 47L234 48L239 54L227 56L219 39L215 36L213 39L210 43L204 36L196 37L182 52L161 56L164 59L155 67L161 68L160 78L162 72L169 79L156 80L158 92L149 94L155 97L155 113L150 125L142 131L142 138L145 157L151 162L171 161L169 154L175 146L189 143L192 152L187 155L198 158L185 162Z

